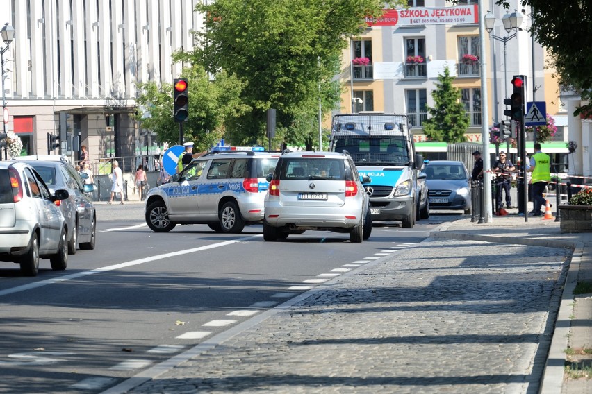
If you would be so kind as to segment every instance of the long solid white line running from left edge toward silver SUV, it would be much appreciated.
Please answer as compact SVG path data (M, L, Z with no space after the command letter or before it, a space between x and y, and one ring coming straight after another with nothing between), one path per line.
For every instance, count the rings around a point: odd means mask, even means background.
M113 266L106 266L106 267L102 267L102 268L96 268L96 269L90 270L90 271L82 271L79 273L72 273L69 275L63 275L63 276L55 277L52 279L40 280L39 282L28 283L28 284L24 284L22 286L13 287L11 289L2 290L2 291L0 291L0 297L2 295L19 293L20 291L37 289L38 287L47 286L49 284L67 282L68 280L78 279L79 277L85 277L85 276L94 275L97 273L105 273L108 271L115 271L120 268L137 266L140 264L154 262L154 261L158 261L161 259L167 259L169 257L189 255L190 253L200 252L202 250L221 248L222 246L229 246L233 243L239 243L239 242L243 242L247 239L259 238L259 237L263 237L263 234L256 234L256 235L252 235L249 237L242 237L242 238L233 239L231 241L224 241L224 242L220 242L220 243L212 243L211 245L200 246L199 248L184 249L184 250L179 250L177 252L163 253L162 255L145 257L144 259L131 260L130 262L124 262L121 264L114 264Z

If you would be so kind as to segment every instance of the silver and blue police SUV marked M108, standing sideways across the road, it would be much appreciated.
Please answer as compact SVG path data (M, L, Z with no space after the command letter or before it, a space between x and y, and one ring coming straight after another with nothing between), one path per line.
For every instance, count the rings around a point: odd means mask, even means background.
M170 182L150 189L146 223L155 232L169 232L177 224L207 224L229 233L263 223L269 187L265 177L273 173L279 156L263 148L218 148L193 159Z

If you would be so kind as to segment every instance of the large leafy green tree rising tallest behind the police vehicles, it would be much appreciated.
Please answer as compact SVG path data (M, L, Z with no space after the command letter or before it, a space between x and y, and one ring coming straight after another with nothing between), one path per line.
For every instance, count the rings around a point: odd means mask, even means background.
M406 1L388 1L388 6ZM240 100L249 112L227 123L235 143L265 142L265 112L277 110L288 142L311 141L290 129L318 117L319 84L324 112L340 99L340 53L367 16L381 15L379 0L216 0L199 3L206 15L200 44L175 60L220 70L245 83Z

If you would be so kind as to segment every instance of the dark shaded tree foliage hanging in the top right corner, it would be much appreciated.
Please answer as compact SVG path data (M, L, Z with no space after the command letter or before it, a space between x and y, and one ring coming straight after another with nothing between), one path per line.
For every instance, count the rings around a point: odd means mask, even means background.
M592 112L592 3L591 1L522 0L532 9L530 33L548 49L559 83L579 91L588 104L574 115ZM509 9L508 1L496 4Z

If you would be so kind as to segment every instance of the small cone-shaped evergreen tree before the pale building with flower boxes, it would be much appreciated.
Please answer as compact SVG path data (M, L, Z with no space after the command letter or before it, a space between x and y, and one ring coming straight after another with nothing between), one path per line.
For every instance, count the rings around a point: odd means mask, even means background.
M461 91L452 86L454 77L445 67L444 74L438 75L436 89L431 92L434 108L427 108L430 117L423 122L423 130L429 139L454 144L466 142L465 132L470 126L470 118L461 102Z

